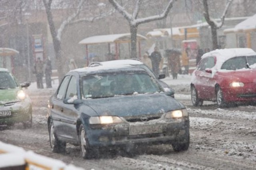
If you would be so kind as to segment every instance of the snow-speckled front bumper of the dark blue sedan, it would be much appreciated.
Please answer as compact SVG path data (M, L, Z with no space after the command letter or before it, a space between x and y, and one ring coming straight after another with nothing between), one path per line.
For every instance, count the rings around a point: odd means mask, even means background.
M86 131L90 146L118 146L118 145L155 145L163 143L186 143L189 135L189 119L152 123L150 126L161 128L160 131L148 134L131 134L131 126L144 125L142 123L125 123L108 125L102 128L90 128Z

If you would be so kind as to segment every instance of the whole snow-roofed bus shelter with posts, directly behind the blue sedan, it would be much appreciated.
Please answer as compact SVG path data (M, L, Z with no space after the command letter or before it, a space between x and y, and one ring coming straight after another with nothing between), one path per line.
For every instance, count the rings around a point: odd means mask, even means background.
M147 38L137 34L137 42L138 42L138 49L139 49L139 57L141 57L140 51L140 41L146 40ZM89 56L88 56L88 45L97 45L97 44L108 44L108 52L110 53L110 44L115 44L115 59L118 59L118 47L120 43L129 43L131 42L131 34L130 33L123 33L123 34L109 34L109 35L97 35L83 39L79 42L79 44L83 44L86 46L86 59L87 65L89 63Z

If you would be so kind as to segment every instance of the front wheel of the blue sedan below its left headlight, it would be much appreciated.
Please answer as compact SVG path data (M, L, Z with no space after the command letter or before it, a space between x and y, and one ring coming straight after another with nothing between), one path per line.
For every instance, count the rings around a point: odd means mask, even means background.
M80 131L79 131L79 142L80 142L80 149L82 153L82 157L84 159L92 158L92 148L90 148L86 131L83 125L80 125Z

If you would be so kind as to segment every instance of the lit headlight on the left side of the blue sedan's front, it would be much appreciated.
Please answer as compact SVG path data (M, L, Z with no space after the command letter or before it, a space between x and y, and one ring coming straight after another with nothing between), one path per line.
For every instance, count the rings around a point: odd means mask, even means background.
M117 116L96 116L90 117L90 124L110 124L110 123L122 123L122 119Z

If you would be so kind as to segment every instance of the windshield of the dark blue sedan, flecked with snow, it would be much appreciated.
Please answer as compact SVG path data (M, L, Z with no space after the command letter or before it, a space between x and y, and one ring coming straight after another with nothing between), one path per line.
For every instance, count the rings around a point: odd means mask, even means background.
M82 77L82 95L84 99L160 91L162 89L155 79L145 72L112 72Z

